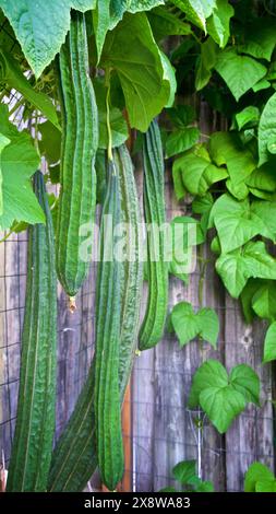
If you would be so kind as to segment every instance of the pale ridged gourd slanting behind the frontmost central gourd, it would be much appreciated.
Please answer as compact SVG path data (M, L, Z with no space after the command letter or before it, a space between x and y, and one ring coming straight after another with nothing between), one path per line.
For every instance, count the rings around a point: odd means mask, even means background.
M139 199L127 148L122 145L113 150L113 159L119 176L121 220L132 226L125 240L127 253L133 253L132 259L127 259L121 270L119 386L122 402L137 343L143 262ZM94 385L95 361L70 421L55 448L49 491L82 491L97 467Z

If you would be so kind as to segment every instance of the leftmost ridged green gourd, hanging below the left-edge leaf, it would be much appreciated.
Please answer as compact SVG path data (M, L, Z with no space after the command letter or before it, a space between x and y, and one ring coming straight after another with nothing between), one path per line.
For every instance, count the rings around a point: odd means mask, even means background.
M34 188L46 224L28 229L27 284L20 393L7 491L47 490L55 433L57 277L53 227L44 186L37 172Z

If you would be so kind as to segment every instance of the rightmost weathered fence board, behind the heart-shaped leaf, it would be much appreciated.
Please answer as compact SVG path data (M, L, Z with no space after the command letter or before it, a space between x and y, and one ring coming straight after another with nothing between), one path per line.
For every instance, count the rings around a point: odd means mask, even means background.
M243 489L250 464L261 460L274 466L271 365L262 365L264 327L260 320L248 326L239 303L227 295L225 322L225 361L227 369L249 364L262 382L262 408L253 405L233 422L226 434L227 490Z

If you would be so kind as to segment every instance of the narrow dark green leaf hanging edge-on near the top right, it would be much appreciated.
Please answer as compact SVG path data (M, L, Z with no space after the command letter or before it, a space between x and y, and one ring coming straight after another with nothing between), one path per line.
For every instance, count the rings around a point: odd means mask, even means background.
M208 37L201 44L201 56L196 63L195 89L202 90L212 77L212 70L217 62L218 46Z

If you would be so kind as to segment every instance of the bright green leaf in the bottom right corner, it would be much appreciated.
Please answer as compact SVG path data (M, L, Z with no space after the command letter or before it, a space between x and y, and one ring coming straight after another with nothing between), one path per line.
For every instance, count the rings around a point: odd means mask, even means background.
M267 466L253 463L244 477L245 492L276 492L276 478Z

